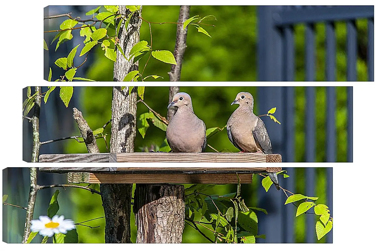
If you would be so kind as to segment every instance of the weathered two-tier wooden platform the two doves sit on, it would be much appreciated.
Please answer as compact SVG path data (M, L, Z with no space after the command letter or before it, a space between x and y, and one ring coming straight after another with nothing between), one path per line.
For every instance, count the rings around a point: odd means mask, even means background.
M147 167L40 167L40 171L68 173L69 183L252 183L254 173L280 172L280 167L237 167L233 162L281 162L280 154L257 153L99 153L42 154L39 162L128 162ZM157 167L154 162L229 162L227 167ZM171 166L169 164L169 166Z

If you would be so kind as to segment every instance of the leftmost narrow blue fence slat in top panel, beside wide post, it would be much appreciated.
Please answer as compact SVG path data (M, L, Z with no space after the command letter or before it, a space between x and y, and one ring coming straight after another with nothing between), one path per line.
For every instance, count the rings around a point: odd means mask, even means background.
M284 27L284 81L294 81L294 34L293 27Z

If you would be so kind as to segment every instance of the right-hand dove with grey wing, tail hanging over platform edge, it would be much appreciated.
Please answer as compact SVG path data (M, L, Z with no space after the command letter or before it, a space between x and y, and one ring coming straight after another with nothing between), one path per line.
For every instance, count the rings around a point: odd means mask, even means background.
M240 92L232 104L239 104L226 124L226 132L232 144L241 152L272 154L266 126L253 112L253 96L249 92ZM270 173L269 176L279 190L277 174Z

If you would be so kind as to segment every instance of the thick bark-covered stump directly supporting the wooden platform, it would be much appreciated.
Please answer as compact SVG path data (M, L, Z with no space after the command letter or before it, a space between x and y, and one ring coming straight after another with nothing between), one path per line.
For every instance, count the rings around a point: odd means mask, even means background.
M181 243L185 218L184 187L137 184L134 193L137 243Z

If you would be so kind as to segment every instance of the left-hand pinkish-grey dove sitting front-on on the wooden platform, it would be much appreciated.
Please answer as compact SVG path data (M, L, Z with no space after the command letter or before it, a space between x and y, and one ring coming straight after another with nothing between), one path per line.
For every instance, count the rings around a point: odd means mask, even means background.
M175 153L201 153L205 151L206 126L193 112L190 95L178 92L169 107L176 106L177 112L166 129L166 140Z

